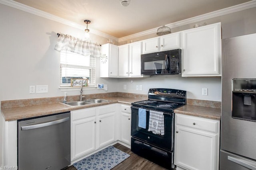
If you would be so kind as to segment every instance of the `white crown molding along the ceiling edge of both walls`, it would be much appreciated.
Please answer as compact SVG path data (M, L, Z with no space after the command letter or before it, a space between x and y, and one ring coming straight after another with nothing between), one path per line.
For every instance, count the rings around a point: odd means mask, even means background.
M54 15L49 14L47 12L43 12L41 10L38 10L36 8L32 8L30 6L26 6L24 4L21 4L19 2L13 1L13 0L0 0L0 3L4 4L4 5L7 5L7 6L10 6L10 7L13 7L13 8L16 8L16 9L19 9L19 10L22 10L22 11L25 11L25 12L29 12L29 13L37 15L37 16L41 16L43 18L47 18L49 20L53 20L53 21L56 21L56 22L59 22L59 23L63 23L65 25L69 25L71 27L75 27L75 28L84 30L84 25L80 25L80 24L74 23L72 21L65 20L65 19L60 18L58 16L54 16ZM230 14L230 13L233 13L233 12L238 12L238 11L241 11L241 10L254 8L254 7L256 7L256 0L245 2L243 4L239 4L239 5L236 5L236 6L231 6L231 7L228 7L228 8L224 8L222 10L217 10L217 11L210 12L210 13L207 13L207 14L203 14L203 15L200 15L200 16L188 18L186 20L181 20L181 21L177 21L177 22L174 22L174 23L169 23L169 24L166 24L166 26L168 26L170 28L179 27L179 26L182 26L182 25L187 25L187 24L190 24L190 23L194 23L194 22L198 22L198 21L202 21L202 20L207 20L207 19L210 19L210 18L214 18L214 17L218 17L218 16ZM144 36L144 35L149 35L149 34L152 34L152 33L156 33L157 29L158 29L158 27L153 28L153 29L149 29L149 30L146 30L146 31L142 31L142 32L139 32L139 33L135 33L135 34L132 34L132 35L128 35L128 36L125 36L125 37L122 37L122 38L119 38L119 39L114 37L114 36L103 33L101 31L95 30L95 29L90 29L90 32L93 33L93 34L105 37L105 38L112 38L112 39L115 39L118 42L121 42L121 41L127 41L129 39L134 39L136 37L141 37L141 36Z

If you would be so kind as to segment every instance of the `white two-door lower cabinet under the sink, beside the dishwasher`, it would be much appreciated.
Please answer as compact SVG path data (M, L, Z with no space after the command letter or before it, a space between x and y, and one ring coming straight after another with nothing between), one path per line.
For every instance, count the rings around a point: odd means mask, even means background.
M71 160L115 141L116 104L71 111Z

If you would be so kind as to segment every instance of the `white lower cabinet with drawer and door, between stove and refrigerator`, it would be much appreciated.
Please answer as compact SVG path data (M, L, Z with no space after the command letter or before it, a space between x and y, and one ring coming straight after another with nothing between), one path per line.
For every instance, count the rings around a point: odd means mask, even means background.
M218 170L220 121L175 114L177 170Z

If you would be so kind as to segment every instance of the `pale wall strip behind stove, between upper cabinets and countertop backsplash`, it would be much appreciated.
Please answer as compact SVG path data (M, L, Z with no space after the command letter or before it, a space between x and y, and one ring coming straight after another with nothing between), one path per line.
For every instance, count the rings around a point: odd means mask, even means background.
M126 90L124 90L126 84ZM142 91L136 90L142 85ZM120 78L118 91L137 94L148 94L149 88L172 88L186 90L187 98L198 100L221 101L220 77L181 77L175 75L152 76L149 78ZM202 88L208 88L208 96L202 96Z

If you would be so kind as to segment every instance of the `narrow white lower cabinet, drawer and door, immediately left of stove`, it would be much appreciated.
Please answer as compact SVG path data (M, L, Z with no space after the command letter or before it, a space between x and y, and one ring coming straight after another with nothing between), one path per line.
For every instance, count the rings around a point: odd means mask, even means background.
M131 107L121 105L121 141L131 145Z

